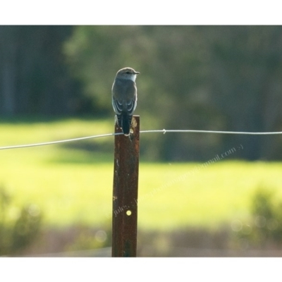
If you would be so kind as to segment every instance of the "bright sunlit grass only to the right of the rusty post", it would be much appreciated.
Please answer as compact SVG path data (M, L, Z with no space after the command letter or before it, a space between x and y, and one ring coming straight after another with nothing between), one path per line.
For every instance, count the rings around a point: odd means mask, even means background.
M141 226L216 227L246 219L254 190L263 186L278 192L282 180L281 164L221 161L193 172L196 166L152 164L143 173L140 169Z

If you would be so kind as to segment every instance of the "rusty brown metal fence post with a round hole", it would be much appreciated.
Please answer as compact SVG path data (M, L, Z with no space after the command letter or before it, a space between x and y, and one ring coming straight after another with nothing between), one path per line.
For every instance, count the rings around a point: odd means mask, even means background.
M112 257L136 257L140 117L133 133L115 135ZM115 133L121 133L115 125Z

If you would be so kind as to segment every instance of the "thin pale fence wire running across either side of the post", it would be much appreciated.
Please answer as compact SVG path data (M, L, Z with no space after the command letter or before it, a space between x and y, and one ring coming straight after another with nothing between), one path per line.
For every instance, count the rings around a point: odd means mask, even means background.
M214 130L140 130L140 133L212 133L212 134L240 134L240 135L280 135L282 131L277 132L262 132L262 133L253 133L253 132L243 132L243 131L214 131ZM100 137L109 137L114 135L123 135L123 133L109 133L109 134L102 134L102 135L92 135L87 137L78 137L73 139L66 139L66 140L59 140L59 141L51 141L51 142L42 142L42 143L34 143L34 144L27 144L27 145L14 145L14 146L6 146L0 147L0 150L4 149L20 149L20 148L27 148L27 147L39 147L45 145L56 145L60 143L66 142L75 142L87 139L94 139Z

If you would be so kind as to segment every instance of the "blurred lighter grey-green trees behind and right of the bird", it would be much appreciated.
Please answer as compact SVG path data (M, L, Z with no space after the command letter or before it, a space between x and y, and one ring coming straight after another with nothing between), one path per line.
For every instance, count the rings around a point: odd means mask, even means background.
M84 93L109 114L116 71L140 71L136 114L147 119L146 129L278 131L281 38L278 26L78 26L64 54ZM274 136L267 145L240 135L178 134L150 141L146 150L166 161L202 161L234 142L248 145L243 158L282 157Z

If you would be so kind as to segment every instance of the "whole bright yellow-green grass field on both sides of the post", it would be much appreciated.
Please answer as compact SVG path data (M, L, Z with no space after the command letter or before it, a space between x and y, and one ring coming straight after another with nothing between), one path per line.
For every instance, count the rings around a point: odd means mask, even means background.
M112 120L1 121L0 147L112 133ZM164 137L162 135L162 137ZM142 139L142 135L141 135ZM0 150L0 185L15 204L36 204L44 223L89 226L111 221L114 137L64 145ZM246 219L259 186L282 183L281 163L224 161L198 164L140 163L138 223L143 229L216 227ZM17 216L11 209L10 216Z

